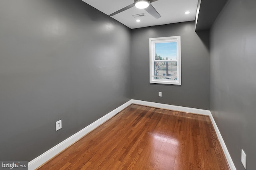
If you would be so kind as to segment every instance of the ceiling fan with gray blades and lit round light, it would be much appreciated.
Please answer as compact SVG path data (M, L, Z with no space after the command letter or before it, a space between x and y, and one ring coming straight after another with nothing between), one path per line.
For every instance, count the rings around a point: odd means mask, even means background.
M125 10L128 10L128 9L136 6L136 8L144 9L144 10L146 10L146 12L148 12L154 18L158 19L158 18L161 18L161 16L151 4L152 2L155 2L155 1L158 1L158 0L134 0L133 4L130 4L130 5L122 8L121 10L114 12L114 13L110 14L109 16L114 16L120 12L123 12Z

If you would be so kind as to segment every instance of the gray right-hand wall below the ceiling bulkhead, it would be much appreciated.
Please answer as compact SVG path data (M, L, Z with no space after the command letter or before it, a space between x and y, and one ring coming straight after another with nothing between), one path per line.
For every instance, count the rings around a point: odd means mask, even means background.
M256 1L229 0L210 34L210 111L238 170L256 158Z

